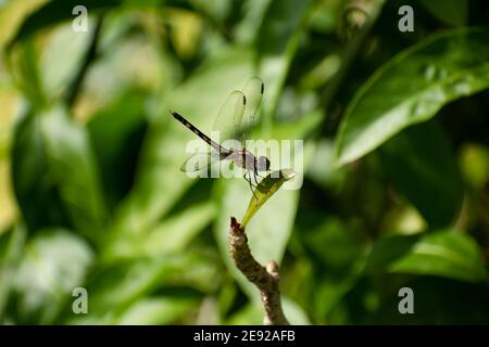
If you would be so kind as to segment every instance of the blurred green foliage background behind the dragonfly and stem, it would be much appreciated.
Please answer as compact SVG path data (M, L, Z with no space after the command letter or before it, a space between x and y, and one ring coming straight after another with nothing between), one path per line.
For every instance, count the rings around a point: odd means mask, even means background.
M88 9L88 33L72 10ZM414 9L400 33L398 9ZM486 1L0 2L0 322L250 324L228 257L244 180L178 170L226 94L304 183L249 221L292 324L489 323ZM297 169L297 168L296 168ZM75 314L72 291L88 291ZM398 292L414 291L414 314Z

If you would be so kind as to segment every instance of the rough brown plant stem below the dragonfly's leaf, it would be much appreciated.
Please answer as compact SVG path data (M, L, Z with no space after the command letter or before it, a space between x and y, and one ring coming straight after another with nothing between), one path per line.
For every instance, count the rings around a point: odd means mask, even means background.
M231 217L229 228L229 252L233 261L244 277L256 285L265 309L264 325L289 325L284 316L280 304L280 291L278 288L278 265L269 261L266 268L260 265L251 255L248 246L248 237L242 227L235 217Z

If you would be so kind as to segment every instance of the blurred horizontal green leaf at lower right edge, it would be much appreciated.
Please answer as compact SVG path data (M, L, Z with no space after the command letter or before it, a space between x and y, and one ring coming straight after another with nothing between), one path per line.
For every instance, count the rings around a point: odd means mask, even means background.
M368 256L366 270L438 275L466 282L487 279L477 243L455 230L380 240Z

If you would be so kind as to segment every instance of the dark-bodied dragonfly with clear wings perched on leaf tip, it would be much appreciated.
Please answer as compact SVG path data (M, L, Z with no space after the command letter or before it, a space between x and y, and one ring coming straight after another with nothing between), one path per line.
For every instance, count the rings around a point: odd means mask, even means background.
M271 162L266 156L254 156L246 149L250 130L255 121L255 117L262 102L264 92L263 81L259 77L252 77L244 85L242 90L235 90L226 98L213 125L213 133L220 136L220 141L214 141L200 131L195 125L188 121L177 112L170 111L171 115L186 126L211 146L206 153L196 153L180 166L184 172L195 172L210 169L210 166L220 160L230 160L234 165L244 169L243 178L250 185L251 192L256 197L254 190L258 185L260 172L269 170ZM223 142L234 140L236 145L226 147ZM193 163L193 165L190 165ZM254 183L252 183L252 178Z

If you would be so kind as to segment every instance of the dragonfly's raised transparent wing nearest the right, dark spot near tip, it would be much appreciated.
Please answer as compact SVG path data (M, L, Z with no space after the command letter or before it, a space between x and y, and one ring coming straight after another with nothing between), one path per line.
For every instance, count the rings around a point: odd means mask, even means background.
M239 128L238 140L244 144L246 140L250 138L251 128L254 125L260 104L262 103L264 85L260 77L251 77L242 89L247 98L244 113Z

